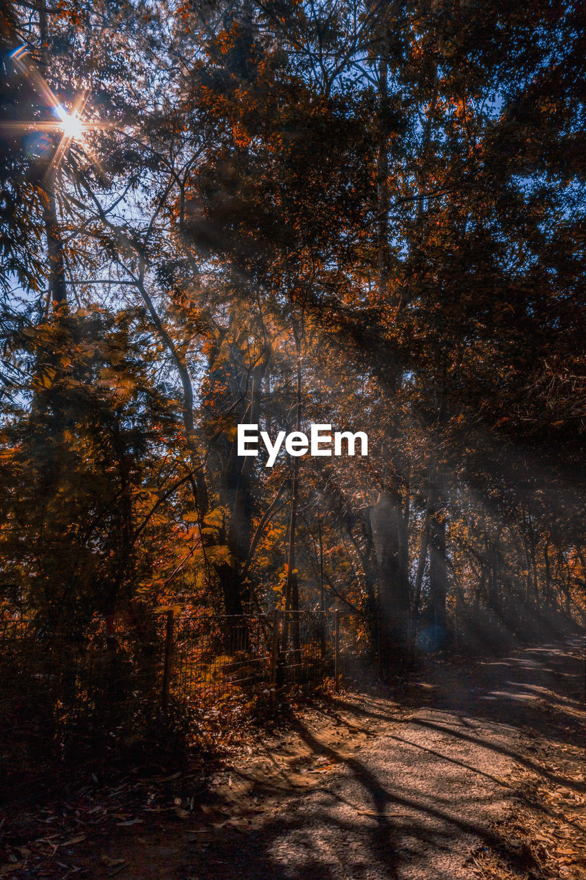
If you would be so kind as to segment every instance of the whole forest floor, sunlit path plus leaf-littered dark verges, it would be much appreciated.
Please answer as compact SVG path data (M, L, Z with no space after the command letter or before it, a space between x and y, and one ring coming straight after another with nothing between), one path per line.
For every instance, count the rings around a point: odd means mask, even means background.
M243 731L215 766L129 768L20 810L0 877L583 878L583 650L436 660L400 694L343 693Z

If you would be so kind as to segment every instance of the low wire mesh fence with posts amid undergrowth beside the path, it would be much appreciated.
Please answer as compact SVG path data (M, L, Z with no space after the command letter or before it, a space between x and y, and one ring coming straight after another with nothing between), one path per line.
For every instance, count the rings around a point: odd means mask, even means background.
M0 799L128 743L196 740L282 694L353 678L373 654L359 614L0 620Z

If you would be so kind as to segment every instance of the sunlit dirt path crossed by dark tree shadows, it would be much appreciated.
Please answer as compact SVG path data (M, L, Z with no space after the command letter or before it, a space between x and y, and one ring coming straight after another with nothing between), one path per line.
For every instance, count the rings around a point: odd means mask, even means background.
M515 794L516 767L537 768L527 752L533 731L554 722L562 740L574 740L577 704L563 693L571 665L560 646L527 649L470 674L446 665L423 692L428 705L402 718L377 700L362 707L341 701L339 708L363 719L360 732L376 738L348 756L319 731L300 728L313 754L330 765L319 783L260 814L245 836L212 840L205 854L195 844L179 876L470 877L474 849L507 844L494 824Z

